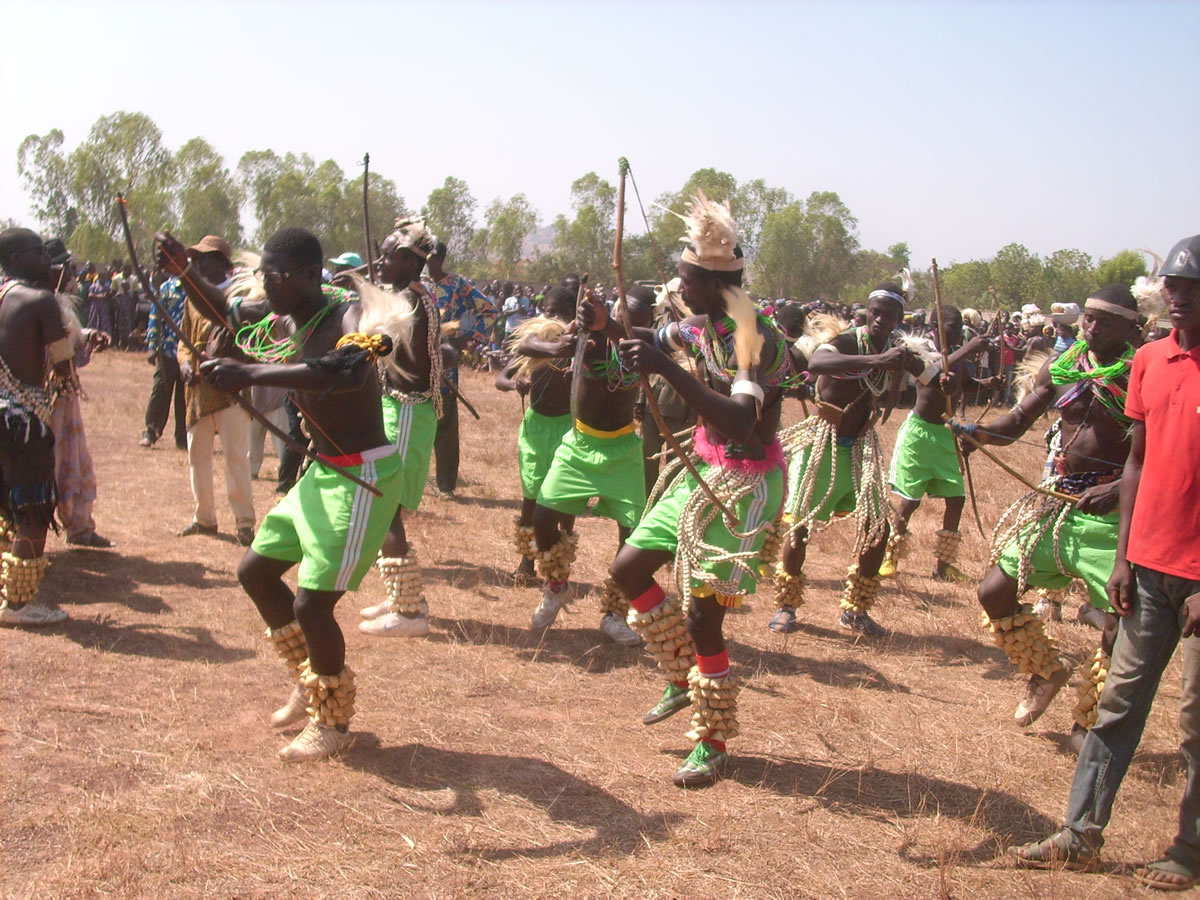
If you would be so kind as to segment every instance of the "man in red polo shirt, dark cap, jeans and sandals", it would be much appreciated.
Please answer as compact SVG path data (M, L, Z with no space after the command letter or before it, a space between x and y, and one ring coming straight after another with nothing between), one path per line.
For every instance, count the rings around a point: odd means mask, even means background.
M1183 890L1200 881L1200 234L1176 244L1160 274L1172 330L1138 350L1129 376L1133 444L1109 580L1109 599L1122 618L1099 718L1079 755L1062 829L1009 852L1037 866L1082 869L1099 860L1112 800L1182 637L1180 730L1188 780L1178 834L1162 859L1136 875L1152 888Z

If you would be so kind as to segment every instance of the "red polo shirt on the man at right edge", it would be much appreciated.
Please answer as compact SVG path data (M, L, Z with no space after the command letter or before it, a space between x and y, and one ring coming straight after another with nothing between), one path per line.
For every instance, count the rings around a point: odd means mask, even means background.
M1126 415L1146 425L1146 456L1126 557L1200 581L1200 347L1177 331L1134 354Z

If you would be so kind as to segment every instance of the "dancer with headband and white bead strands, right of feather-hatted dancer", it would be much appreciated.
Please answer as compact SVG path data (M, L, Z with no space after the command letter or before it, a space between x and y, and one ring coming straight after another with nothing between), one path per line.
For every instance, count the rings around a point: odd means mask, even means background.
M809 358L809 373L816 376L816 412L780 434L788 456L788 485L781 521L786 536L774 577L779 612L768 625L772 631L796 629L811 530L834 516L853 514L856 564L846 580L839 622L868 637L887 635L870 617L888 538L883 451L875 419L880 397L893 392L901 370L919 376L925 368L916 354L892 346L907 299L901 286L880 284L868 296L866 324L846 329Z

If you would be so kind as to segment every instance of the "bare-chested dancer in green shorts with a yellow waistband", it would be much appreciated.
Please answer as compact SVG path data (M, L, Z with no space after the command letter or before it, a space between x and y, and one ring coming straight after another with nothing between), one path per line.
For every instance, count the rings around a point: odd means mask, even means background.
M653 292L635 288L628 300L630 318L638 326L649 325ZM530 622L534 629L550 628L566 601L578 541L578 534L571 530L575 516L595 499L595 515L617 522L620 546L646 505L642 439L634 424L637 373L618 359L616 341L605 335L581 335L576 340L587 343L582 368L571 379L575 422L554 451L533 514L538 568L545 582ZM616 583L606 583L600 600L600 630L612 641L634 647L641 638L625 624L628 610L629 599Z

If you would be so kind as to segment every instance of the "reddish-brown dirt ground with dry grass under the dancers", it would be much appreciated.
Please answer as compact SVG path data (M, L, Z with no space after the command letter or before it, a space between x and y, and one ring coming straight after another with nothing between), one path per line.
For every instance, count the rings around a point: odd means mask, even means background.
M924 577L940 504L877 607L876 646L835 624L851 553L834 526L809 554L803 629L767 630L769 598L726 620L748 680L727 778L682 791L686 716L640 724L661 690L640 649L604 640L599 586L611 522L581 520L577 599L544 636L538 594L515 589L520 404L484 374L463 390L460 496L427 491L409 534L422 554L433 631L368 638L340 605L359 674L354 748L286 767L268 716L289 686L234 576L241 548L217 469L220 538L190 521L186 455L137 445L150 386L140 355L84 370L100 530L112 551L50 538L43 590L71 614L0 634L0 893L44 896L986 896L1140 894L1132 866L1175 830L1180 670L1163 682L1122 787L1099 875L1014 869L1003 848L1040 838L1066 806L1073 686L1032 728L1021 684L984 642L971 587ZM799 415L788 402L786 418ZM890 448L902 413L884 426ZM1040 470L1036 446L1009 460ZM1024 488L974 461L991 527ZM256 482L274 500L275 458ZM984 544L964 523L965 568ZM1097 632L1050 626L1075 659Z

